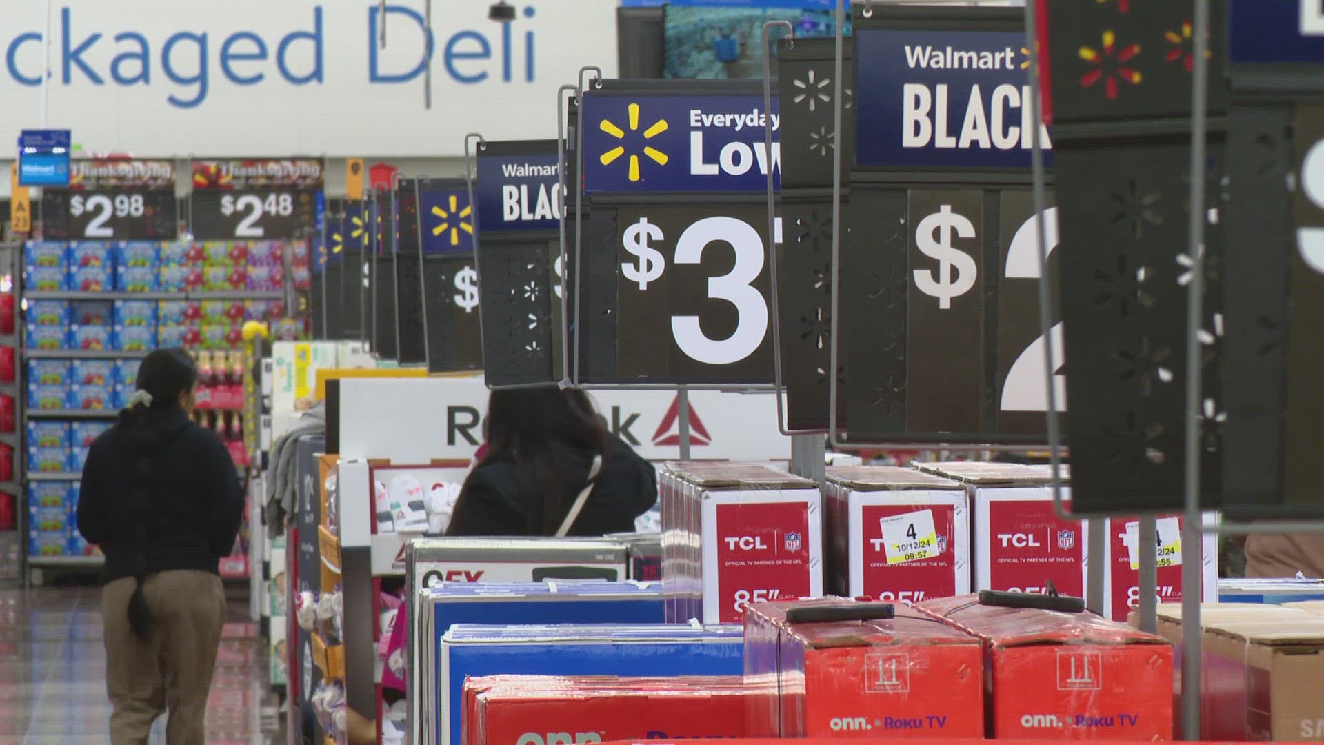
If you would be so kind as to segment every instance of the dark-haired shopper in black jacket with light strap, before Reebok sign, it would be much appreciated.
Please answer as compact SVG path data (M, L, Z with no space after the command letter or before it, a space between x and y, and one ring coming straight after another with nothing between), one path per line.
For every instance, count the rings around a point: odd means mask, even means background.
M493 391L489 452L465 480L449 536L555 536L579 493L601 472L569 536L634 530L657 501L653 467L613 436L576 388Z

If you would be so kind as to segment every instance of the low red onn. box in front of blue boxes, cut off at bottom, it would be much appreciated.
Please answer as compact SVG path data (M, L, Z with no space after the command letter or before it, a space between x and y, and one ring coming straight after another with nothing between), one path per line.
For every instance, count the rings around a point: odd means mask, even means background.
M747 737L740 676L494 676L465 684L465 745Z

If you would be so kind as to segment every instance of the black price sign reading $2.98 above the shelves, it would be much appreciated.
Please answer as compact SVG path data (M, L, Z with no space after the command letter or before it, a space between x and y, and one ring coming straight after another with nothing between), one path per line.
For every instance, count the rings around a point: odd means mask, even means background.
M52 240L167 240L177 233L175 192L46 190L41 217Z

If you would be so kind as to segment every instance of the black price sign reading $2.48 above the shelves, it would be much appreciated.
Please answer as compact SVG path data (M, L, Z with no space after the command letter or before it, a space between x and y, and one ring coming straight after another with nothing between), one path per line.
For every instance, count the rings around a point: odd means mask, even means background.
M316 227L316 192L308 190L199 190L193 192L193 237L301 237Z

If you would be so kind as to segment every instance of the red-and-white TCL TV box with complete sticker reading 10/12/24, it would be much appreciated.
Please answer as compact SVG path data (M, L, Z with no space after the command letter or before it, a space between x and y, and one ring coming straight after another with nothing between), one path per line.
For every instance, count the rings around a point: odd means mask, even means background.
M970 591L970 508L956 481L912 468L828 469L831 593L911 604Z

